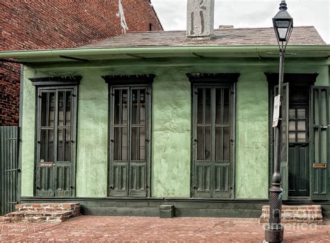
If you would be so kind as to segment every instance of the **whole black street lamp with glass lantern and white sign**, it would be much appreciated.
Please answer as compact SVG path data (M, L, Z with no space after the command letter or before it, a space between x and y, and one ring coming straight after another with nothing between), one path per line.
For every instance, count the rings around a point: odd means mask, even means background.
M283 226L281 225L283 192L283 189L281 189L281 103L283 100L282 93L285 48L288 45L288 41L292 33L293 19L287 12L288 8L285 0L281 1L279 9L280 10L273 18L273 26L276 33L280 54L280 69L278 79L278 96L274 100L273 127L275 127L275 156L272 187L269 189L269 224L265 228L265 241L267 242L283 241Z

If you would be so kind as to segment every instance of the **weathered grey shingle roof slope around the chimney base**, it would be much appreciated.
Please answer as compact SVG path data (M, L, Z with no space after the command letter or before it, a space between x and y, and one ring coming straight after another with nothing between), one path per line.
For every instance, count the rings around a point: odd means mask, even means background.
M186 31L130 32L84 47L277 45L273 28L216 29L212 38L187 38ZM289 45L326 45L314 26L295 27Z

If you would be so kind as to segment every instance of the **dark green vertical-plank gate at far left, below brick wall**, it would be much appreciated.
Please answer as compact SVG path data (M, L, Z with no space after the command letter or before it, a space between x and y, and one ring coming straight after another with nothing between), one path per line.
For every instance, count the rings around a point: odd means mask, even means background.
M18 127L0 127L0 215L17 203Z

